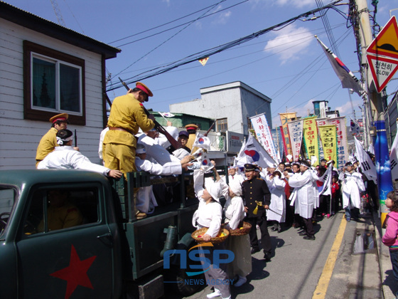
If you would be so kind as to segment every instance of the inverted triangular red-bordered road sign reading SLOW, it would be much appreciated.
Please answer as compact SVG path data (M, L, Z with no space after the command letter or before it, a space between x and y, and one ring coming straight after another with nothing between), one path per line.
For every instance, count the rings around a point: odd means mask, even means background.
M384 58L382 56L367 55L367 62L369 63L370 71L372 72L373 80L377 93L381 93L386 87L389 80L391 80L394 73L398 70L398 61L394 59Z

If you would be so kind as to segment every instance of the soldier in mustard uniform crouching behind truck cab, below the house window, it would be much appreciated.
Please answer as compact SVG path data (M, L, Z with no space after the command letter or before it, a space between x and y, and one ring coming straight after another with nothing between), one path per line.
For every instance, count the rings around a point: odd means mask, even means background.
M51 129L41 137L38 144L36 151L36 168L45 156L53 152L55 147L58 147L57 133L59 130L64 130L68 127L68 117L69 115L67 113L61 113L50 118L50 122L53 125L51 125ZM75 150L78 149L75 148Z

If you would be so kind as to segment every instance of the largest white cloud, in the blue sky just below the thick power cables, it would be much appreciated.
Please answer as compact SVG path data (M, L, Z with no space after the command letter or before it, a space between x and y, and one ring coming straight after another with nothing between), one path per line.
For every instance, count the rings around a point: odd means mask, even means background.
M264 51L277 54L281 63L298 59L298 54L306 53L306 48L314 40L307 28L296 28L294 24L272 32L276 37L267 43Z

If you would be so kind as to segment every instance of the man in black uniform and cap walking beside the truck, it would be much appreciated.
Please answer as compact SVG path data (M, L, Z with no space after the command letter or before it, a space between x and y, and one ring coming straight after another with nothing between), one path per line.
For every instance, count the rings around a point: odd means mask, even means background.
M252 245L252 254L259 251L259 241L257 239L257 228L259 225L261 231L261 243L264 251L265 261L271 261L271 237L267 228L267 216L265 210L269 209L271 203L271 193L264 179L254 176L255 166L244 164L244 174L247 180L242 182L242 192L244 197L244 211L246 219L244 221L252 224L249 231L250 244Z

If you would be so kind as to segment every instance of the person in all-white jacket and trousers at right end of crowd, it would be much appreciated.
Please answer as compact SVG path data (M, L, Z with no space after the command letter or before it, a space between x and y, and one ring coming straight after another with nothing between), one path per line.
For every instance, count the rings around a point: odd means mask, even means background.
M363 184L362 175L354 172L351 162L345 163L343 172L340 173L338 179L342 182L341 192L343 193L343 208L345 209L345 220L351 221L351 209L353 216L359 216L360 209L360 192L365 192L365 184Z

